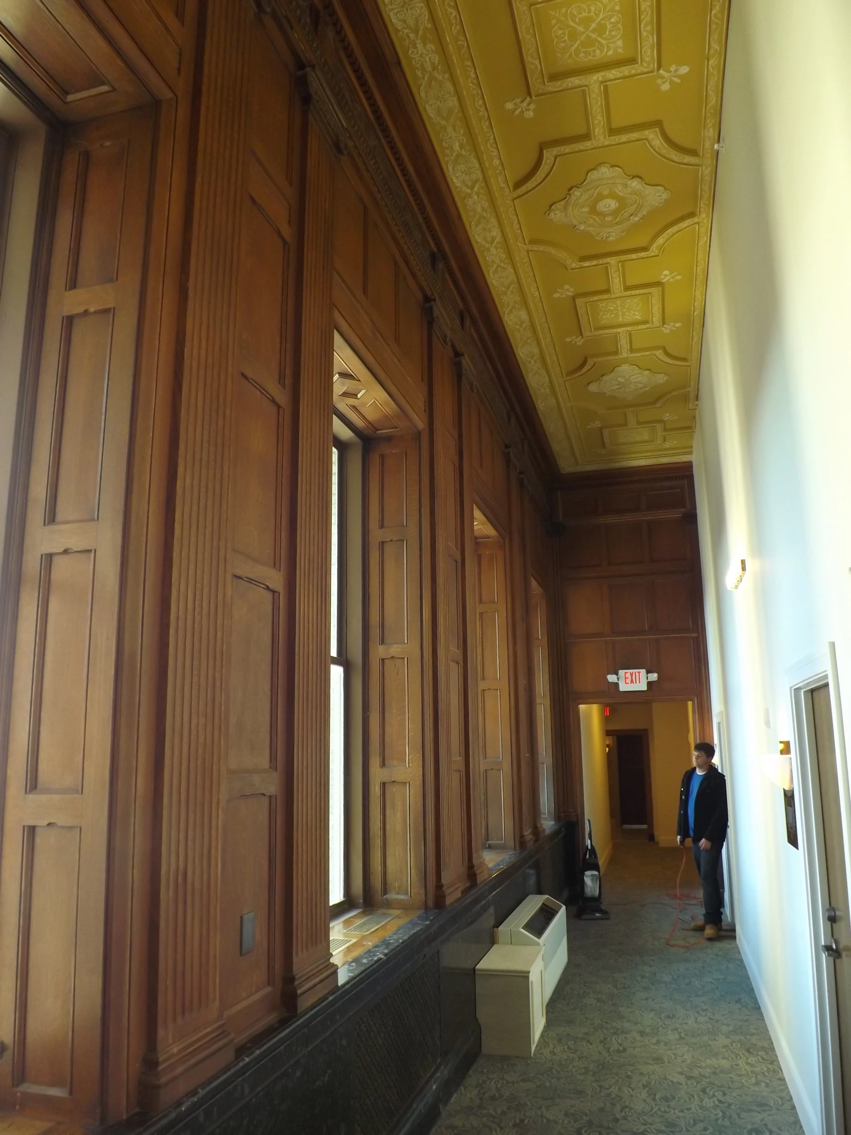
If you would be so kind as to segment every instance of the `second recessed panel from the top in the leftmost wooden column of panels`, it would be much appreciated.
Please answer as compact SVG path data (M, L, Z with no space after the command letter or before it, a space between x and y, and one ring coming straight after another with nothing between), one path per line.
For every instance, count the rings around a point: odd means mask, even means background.
M65 320L53 428L48 520L96 520L100 499L112 311Z

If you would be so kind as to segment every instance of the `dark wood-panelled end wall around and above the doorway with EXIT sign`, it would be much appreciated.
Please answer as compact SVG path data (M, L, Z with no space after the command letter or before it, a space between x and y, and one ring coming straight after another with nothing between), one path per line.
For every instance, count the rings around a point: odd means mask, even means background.
M578 706L629 701L606 675L656 671L644 700L692 700L701 735L711 735L702 583L691 465L595 473L558 490L562 636L573 751ZM581 812L581 762L559 809ZM565 770L565 772L568 772Z

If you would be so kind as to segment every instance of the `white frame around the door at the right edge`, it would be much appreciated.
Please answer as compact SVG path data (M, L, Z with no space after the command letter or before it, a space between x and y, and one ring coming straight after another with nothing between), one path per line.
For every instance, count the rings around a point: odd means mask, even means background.
M811 669L810 669L811 667ZM845 759L845 737L842 726L836 672L836 653L833 642L827 651L811 656L794 667L799 673L809 670L807 678L793 681L792 720L794 743L792 746L793 783L798 819L798 841L803 856L803 874L807 886L809 911L809 942L812 958L816 999L816 1029L818 1033L818 1070L821 1083L821 1129L825 1135L842 1135L845 1130L842 1103L842 1068L840 1062L839 1017L836 1008L836 983L833 977L834 962L821 950L825 942L824 911L827 900L827 868L820 852L823 842L821 800L818 787L818 760L812 713L807 695L819 686L827 684L831 691L833 731L839 765L840 805L845 846L845 871L849 872L849 835L851 834L851 796L849 794L848 764ZM851 881L851 872L849 872ZM851 964L851 958L846 959Z

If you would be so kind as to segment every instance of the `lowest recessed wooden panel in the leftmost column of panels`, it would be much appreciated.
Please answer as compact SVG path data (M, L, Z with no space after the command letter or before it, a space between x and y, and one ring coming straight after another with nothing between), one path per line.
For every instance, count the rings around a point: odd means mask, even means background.
M71 1094L78 880L78 827L24 830L16 1079L31 1092Z

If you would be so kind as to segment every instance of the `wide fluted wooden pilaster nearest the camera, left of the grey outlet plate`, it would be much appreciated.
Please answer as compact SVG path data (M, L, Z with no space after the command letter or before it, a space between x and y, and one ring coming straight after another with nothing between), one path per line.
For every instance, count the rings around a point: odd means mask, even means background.
M207 10L174 495L152 935L155 1010L140 1081L159 1110L224 1067L219 838L227 485L251 8ZM142 931L140 930L140 933Z

